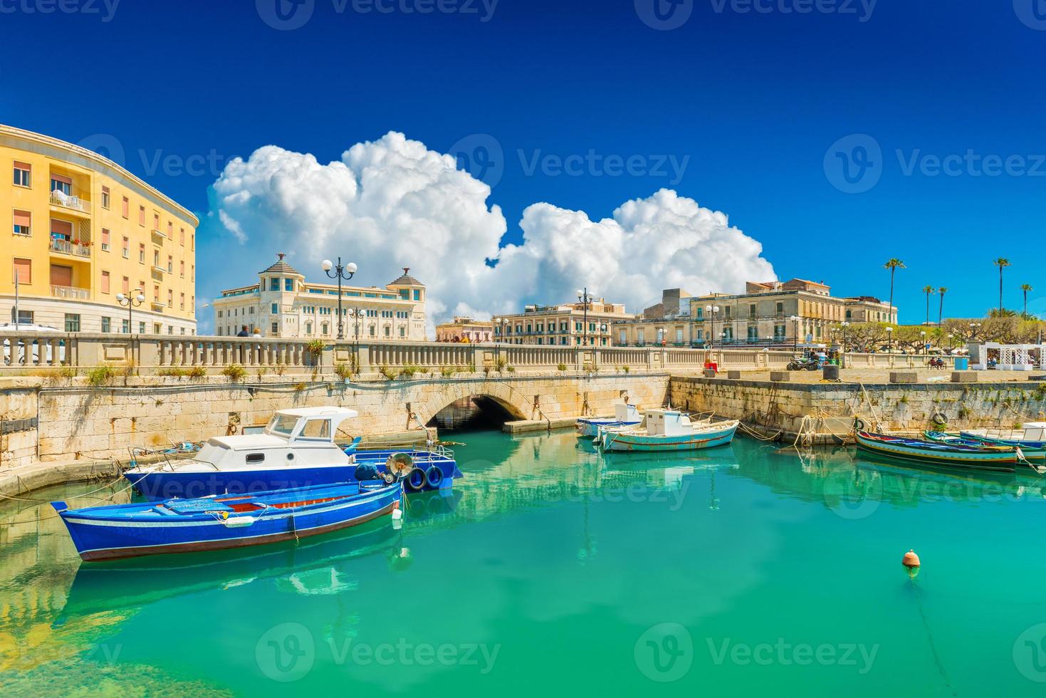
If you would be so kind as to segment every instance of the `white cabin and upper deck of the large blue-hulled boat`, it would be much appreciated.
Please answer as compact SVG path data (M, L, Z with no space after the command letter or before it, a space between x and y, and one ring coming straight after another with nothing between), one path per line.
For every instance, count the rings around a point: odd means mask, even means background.
M179 470L271 470L350 465L355 458L335 443L344 420L359 412L346 407L281 409L263 433L214 436Z

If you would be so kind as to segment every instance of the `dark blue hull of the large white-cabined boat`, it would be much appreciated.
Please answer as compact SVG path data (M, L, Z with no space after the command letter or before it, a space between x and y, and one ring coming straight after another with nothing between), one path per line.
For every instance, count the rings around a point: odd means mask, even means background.
M385 472L385 461L393 453L407 453L423 470L435 466L442 472L439 488L425 485L422 490L446 489L454 486L454 479L461 476L457 463L441 456L430 457L427 451L358 451L356 463L309 468L265 468L241 470L211 470L186 472L174 470L135 468L123 473L123 477L149 501L164 501L174 497L192 499L220 494L251 494L272 490L288 490L355 482L356 469L369 463Z

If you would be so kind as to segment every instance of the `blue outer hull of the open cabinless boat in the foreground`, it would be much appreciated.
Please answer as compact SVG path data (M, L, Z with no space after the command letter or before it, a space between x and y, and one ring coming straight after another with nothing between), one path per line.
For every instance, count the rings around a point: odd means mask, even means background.
M358 486L345 486L341 491L350 491L348 488L353 487L359 491ZM316 494L318 490L320 488L303 488L280 493L304 498L305 502L314 496L320 499L301 506L267 508L256 517L230 516L223 519L213 513L156 516L151 515L150 510L158 508L150 504L65 510L60 511L60 516L83 560L115 560L221 550L317 536L388 515L397 506L402 494L402 488L393 485L331 500ZM263 496L247 499L260 500ZM210 502L226 500L228 498L215 498ZM138 509L124 513L121 508ZM252 520L238 523L243 519Z

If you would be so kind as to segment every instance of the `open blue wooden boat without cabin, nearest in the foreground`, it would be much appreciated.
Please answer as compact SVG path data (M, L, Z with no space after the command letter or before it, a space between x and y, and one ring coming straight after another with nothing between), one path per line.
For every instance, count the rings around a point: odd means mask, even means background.
M389 515L402 496L399 479L379 479L160 503L51 505L79 557L91 561L297 540Z

